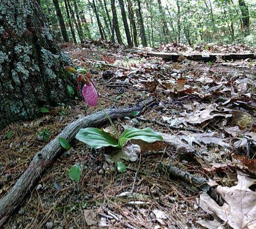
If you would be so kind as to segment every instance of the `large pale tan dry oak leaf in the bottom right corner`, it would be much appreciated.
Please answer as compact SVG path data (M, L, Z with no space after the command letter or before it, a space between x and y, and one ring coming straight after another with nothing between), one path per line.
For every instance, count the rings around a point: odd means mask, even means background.
M256 228L256 192L249 187L256 183L245 174L237 175L238 184L233 187L218 185L216 192L226 201L219 206L208 194L200 195L200 207L211 214L214 221L199 220L207 228L220 228L227 223L234 229Z

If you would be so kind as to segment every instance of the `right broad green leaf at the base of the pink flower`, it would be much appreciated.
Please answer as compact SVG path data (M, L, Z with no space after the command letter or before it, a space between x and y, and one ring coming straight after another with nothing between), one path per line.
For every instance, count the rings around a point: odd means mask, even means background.
M155 141L162 141L163 137L154 132L151 128L137 129L137 128L128 128L125 129L120 138L125 137L127 139L138 139L144 142L152 143Z

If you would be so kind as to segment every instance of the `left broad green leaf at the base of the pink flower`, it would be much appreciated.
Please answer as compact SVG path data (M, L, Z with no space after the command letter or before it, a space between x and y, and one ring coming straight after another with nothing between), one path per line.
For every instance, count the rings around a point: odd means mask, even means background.
M76 138L94 149L99 149L105 146L118 146L113 137L103 130L97 128L80 129L76 135Z

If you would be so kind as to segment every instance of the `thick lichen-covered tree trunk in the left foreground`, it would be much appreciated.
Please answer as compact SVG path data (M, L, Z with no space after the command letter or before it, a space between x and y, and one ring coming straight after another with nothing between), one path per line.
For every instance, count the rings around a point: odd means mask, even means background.
M1 0L0 129L71 100L70 59L53 39L38 0ZM4 9L4 10L3 10Z

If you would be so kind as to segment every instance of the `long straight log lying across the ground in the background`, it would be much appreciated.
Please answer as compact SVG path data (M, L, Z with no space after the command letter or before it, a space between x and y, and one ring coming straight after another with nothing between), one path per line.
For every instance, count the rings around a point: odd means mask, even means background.
M203 60L203 61L213 61L218 58L223 60L240 60L240 59L256 59L255 53L163 53L163 52L140 52L136 50L127 50L130 53L136 53L141 56L153 56L161 57L163 59L178 61L180 55L183 55L189 60Z

